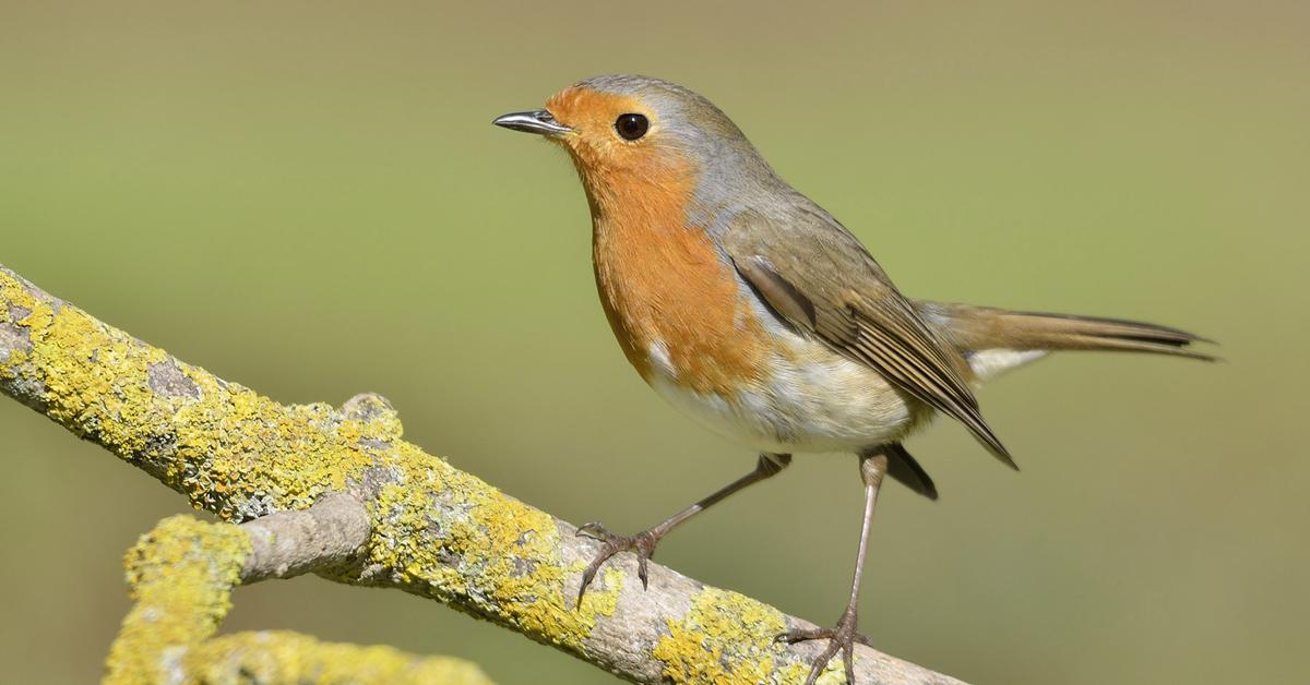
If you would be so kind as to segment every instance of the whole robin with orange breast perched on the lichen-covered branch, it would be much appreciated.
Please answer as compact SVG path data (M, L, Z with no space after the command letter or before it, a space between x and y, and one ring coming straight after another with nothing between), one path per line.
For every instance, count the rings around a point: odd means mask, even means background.
M673 528L791 464L793 454L857 457L859 545L834 627L779 642L827 640L814 684L841 652L854 682L857 604L884 478L937 499L904 441L938 414L962 423L1002 464L1009 449L982 418L977 388L1060 350L1213 360L1191 333L1116 318L914 300L832 215L783 181L707 98L648 76L578 81L544 109L496 126L536 134L571 157L592 224L601 308L627 361L692 419L758 453L732 483L633 536L588 523L600 541L578 591L622 551L647 559Z

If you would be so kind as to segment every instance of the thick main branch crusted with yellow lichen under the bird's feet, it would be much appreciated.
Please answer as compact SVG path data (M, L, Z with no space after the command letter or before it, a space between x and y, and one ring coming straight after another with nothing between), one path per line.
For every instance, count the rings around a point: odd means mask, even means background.
M631 559L607 567L575 609L597 544L402 440L381 397L358 396L339 410L279 405L4 267L0 390L225 520L350 494L367 511L368 541L316 572L443 601L629 680L791 682L821 648L773 640L810 623L658 565L643 592ZM861 682L958 682L865 647L855 671ZM841 677L840 667L829 673Z

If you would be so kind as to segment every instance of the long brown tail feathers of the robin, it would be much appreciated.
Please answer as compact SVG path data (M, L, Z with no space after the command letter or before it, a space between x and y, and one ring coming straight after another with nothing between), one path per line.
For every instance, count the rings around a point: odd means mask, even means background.
M1153 352L1213 361L1189 346L1213 342L1184 330L1117 318L1009 312L965 304L918 303L920 313L939 326L962 351L1108 350Z

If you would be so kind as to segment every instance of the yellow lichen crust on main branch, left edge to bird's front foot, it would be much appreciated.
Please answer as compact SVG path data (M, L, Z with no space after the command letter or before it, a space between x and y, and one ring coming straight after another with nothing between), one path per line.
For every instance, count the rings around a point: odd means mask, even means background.
M621 572L607 571L575 610L565 579L576 568L559 557L554 519L401 440L381 398L341 411L279 405L35 296L3 270L0 316L31 343L0 361L0 380L33 379L45 414L196 508L244 521L305 509L329 491L367 491L369 575L342 580L385 579L575 652L614 612Z

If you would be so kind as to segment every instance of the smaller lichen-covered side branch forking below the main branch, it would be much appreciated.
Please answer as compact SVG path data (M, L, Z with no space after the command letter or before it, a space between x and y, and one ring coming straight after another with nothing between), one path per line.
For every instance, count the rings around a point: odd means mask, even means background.
M419 657L390 647L322 643L287 631L237 633L215 638L231 608L232 588L278 575L274 570L316 568L339 561L341 546L320 547L301 534L341 540L325 527L348 516L348 496L237 527L173 516L127 554L127 579L136 605L109 652L105 682L443 682L490 685L478 667L447 656ZM267 523L265 523L267 521ZM262 529L254 529L265 523ZM348 530L348 528L347 528ZM272 542L288 532L292 540ZM367 533L367 528L365 528ZM312 536L314 537L314 536ZM367 534L358 542L367 541ZM295 565L284 563L300 544ZM348 551L348 550L347 550Z

